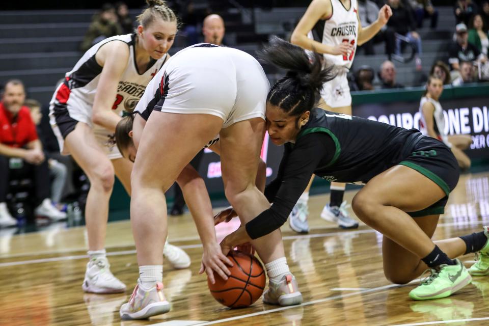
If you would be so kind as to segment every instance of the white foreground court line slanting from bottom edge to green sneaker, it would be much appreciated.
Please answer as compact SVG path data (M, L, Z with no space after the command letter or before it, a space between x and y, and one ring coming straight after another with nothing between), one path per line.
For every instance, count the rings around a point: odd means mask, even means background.
M234 317L229 317L229 318L212 320L212 321L208 321L208 322L196 324L195 326L214 325L214 324L219 324L219 323L223 323L223 322L227 322L227 321L233 321L233 320L239 320L239 319L244 319L244 318L249 318L249 317L254 317L254 316L266 315L266 314L269 314L269 313L274 313L274 312L284 311L284 310L289 310L289 309L295 309L295 308L299 308L299 307L311 306L311 305L315 305L315 304L319 304L319 303L323 303L323 302L328 302L328 301L332 301L332 300L336 300L336 299L340 299L340 298L345 298L345 297L349 297L349 296L354 296L354 295L358 295L358 294L364 294L364 293L370 293L370 292L378 292L378 291L383 291L383 290L387 290L387 289L391 289L391 288L404 287L404 286L408 286L409 284L416 283L416 282L419 282L419 279L413 280L413 281L409 282L408 284L404 284L404 285L389 284L389 285L379 286L379 287L375 287L375 288L371 288L371 289L366 289L366 290L362 290L362 291L352 292L352 293L348 293L348 294L338 294L338 295L333 295L333 296L325 297L325 298L322 298L322 299L308 301L308 302L305 302L305 303L302 303L302 304L296 305L296 306L280 307L280 308L275 308L275 309L269 309L269 310L265 310L265 311L254 312L254 313L251 313L251 314L246 314L246 315L241 315L241 316L234 316Z

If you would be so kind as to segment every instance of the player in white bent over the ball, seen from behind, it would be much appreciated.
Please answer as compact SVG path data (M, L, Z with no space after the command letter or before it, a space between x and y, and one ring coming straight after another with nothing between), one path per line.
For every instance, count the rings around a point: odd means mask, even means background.
M157 254L167 235L166 225L161 224L167 221L165 191L216 134L226 198L241 223L270 206L255 185L268 89L263 68L252 56L212 44L176 53L149 83L134 110L132 140L138 153L128 154L135 158L131 222L140 278L129 302L120 309L122 318L148 318L170 310L162 296L162 259ZM196 219L196 223L203 242L206 238L215 242L212 219L201 223ZM251 244L269 278L263 301L300 304L302 294L288 268L280 230ZM222 254L219 244L212 248ZM227 260L215 263L227 270Z

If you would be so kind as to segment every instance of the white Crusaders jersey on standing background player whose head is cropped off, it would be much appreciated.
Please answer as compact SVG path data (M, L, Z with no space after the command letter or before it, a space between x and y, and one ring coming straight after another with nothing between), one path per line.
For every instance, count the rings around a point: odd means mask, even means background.
M353 51L348 56L323 55L325 63L349 69L357 51L357 0L350 0L350 8L348 10L340 0L331 0L331 6L333 10L331 17L326 20L319 20L309 32L308 37L329 45L338 45L343 42L351 44Z

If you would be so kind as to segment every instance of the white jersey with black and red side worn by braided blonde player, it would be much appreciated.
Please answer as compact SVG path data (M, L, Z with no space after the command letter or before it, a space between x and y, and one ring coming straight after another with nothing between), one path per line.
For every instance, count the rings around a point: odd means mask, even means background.
M74 68L66 73L64 83L58 87L51 100L51 107L54 105L56 110L57 106L67 106L72 118L91 124L91 121L86 120L87 117L92 116L92 106L103 68L95 60L95 55L102 45L112 41L123 41L129 47L127 67L119 80L112 110L118 115L121 115L124 110L132 112L143 96L151 78L159 71L168 57L165 55L158 60L151 59L146 70L140 74L134 58L135 34L117 35L104 39L85 52ZM97 126L97 128L101 127Z

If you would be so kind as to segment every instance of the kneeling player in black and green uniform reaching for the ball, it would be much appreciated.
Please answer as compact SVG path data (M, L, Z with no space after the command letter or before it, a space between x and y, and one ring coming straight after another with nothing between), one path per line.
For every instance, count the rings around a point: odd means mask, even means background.
M410 292L414 300L451 295L471 282L458 259L489 252L484 231L433 242L448 195L458 181L458 166L442 142L389 124L313 108L314 92L332 78L298 47L275 38L264 51L272 64L288 69L267 96L270 139L285 144L277 178L265 188L273 205L221 243L223 253L239 243L260 238L287 220L312 173L329 180L361 182L352 201L357 216L384 235L384 273L404 284L426 268L431 275ZM487 254L471 268L484 271Z

